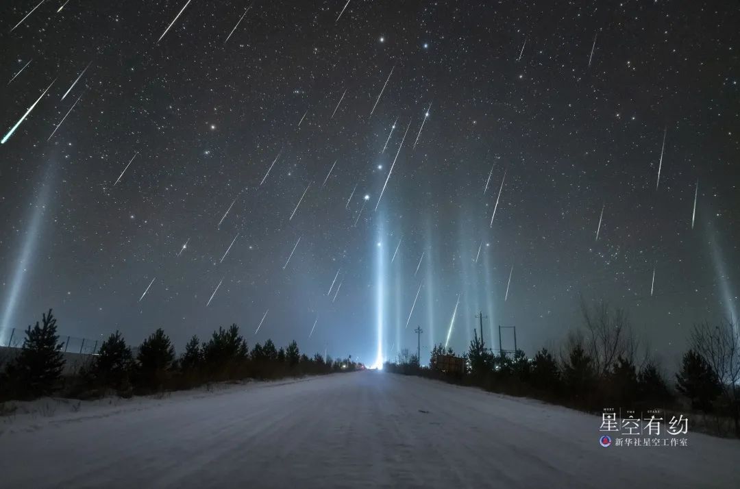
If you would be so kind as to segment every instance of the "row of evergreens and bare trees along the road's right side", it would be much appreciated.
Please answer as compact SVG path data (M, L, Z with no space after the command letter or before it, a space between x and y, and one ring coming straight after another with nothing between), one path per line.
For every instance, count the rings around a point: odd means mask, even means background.
M462 374L441 371L440 360L454 355L441 344L432 349L428 367L406 351L385 368L589 412L620 407L690 410L698 415L696 428L740 437L740 335L730 320L694 326L679 371L669 380L650 348L636 339L624 310L600 303L582 305L582 313L585 327L571 331L559 351L541 348L534 357L522 350L502 354L475 332L462 355Z

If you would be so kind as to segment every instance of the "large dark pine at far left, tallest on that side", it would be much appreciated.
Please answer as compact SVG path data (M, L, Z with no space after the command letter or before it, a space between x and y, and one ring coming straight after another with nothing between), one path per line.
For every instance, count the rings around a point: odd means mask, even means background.
M33 329L28 326L20 354L7 365L7 378L21 397L51 394L64 368L64 343L57 343L56 318L51 309L42 315L41 323L39 327L37 321Z

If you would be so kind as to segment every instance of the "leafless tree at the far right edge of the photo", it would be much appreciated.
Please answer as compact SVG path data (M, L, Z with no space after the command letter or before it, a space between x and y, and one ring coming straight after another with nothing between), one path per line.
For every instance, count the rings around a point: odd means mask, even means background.
M710 365L721 383L722 394L730 404L736 436L740 436L740 333L732 320L719 325L694 325L691 344Z

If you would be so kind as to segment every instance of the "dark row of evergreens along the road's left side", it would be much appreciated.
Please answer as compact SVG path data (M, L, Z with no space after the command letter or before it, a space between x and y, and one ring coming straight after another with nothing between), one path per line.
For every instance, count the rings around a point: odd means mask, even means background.
M308 357L297 343L277 348L272 340L249 350L239 327L218 328L207 341L193 336L181 356L164 330L145 338L136 354L120 331L108 337L90 360L71 375L63 375L64 354L52 310L41 324L28 326L19 353L0 365L0 401L48 395L90 398L193 388L209 382L330 374L354 371L351 357L343 360ZM1 363L1 362L0 362Z

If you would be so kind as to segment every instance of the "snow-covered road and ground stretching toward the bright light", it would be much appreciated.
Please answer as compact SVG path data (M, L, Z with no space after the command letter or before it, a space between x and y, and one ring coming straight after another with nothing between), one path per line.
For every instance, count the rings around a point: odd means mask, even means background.
M7 488L740 488L740 442L599 445L601 419L366 371L0 418Z

